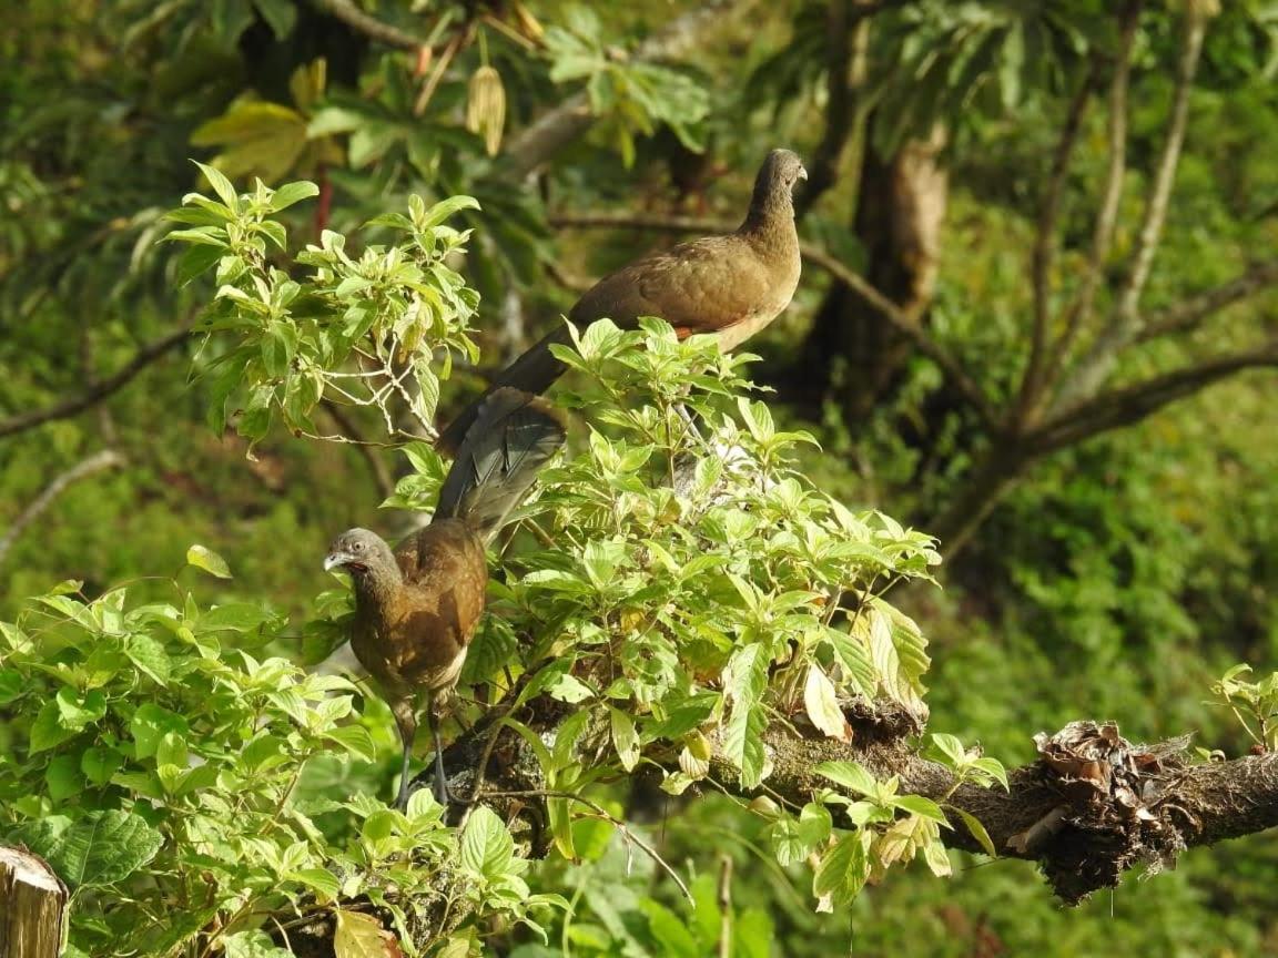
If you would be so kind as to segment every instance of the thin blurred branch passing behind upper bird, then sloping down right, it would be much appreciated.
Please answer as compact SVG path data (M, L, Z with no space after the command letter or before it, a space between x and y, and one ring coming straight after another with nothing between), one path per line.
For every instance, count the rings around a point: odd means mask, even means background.
M668 232L731 232L737 226L736 224L702 220L690 216L642 216L635 213L553 213L547 218L552 226L620 227L665 230ZM799 250L809 263L820 267L831 277L855 290L873 309L878 310L893 327L907 336L920 353L941 367L941 370L955 387L956 392L964 397L987 425L993 427L998 424L998 410L985 397L976 381L967 374L957 356L952 355L950 350L932 337L914 312L901 309L901 307L874 289L864 276L845 266L820 247L810 243L800 243Z

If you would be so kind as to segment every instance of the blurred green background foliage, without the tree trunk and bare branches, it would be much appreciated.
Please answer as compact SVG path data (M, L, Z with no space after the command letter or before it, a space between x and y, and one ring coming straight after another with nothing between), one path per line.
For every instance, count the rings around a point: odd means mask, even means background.
M598 15L556 1L428 10L364 4L436 43L424 69L414 54L321 14L325 6L58 0L6 11L0 423L109 377L139 347L194 321L217 293L203 278L181 286L189 271L179 248L157 244L173 229L164 211L202 185L192 156L221 162L233 175L262 175L271 186L300 178L320 184L314 203L282 217L294 248L323 249L323 230L353 232L409 209L410 194L424 197L423 207L474 197L481 208L458 216L459 230L473 230L465 259L451 255L447 266L482 294L470 324L486 359L495 359L510 349L511 336L556 322L573 301L576 278L667 241L636 231L556 232L547 208L695 208L730 218L768 147L785 143L812 156L820 142L829 3L791 0L744 20L721 17L682 63L658 64L631 51L690 4L616 5ZM930 328L979 374L988 395L1010 400L1025 356L1031 299L1025 252L1048 157L1088 54L1113 50L1112 5L895 6L875 15L869 33L872 64L886 65L868 92L875 107L870 139L891 149L935 121L951 128L950 208ZM1132 162L1116 263L1136 241L1141 190L1167 126L1186 4L1146 6L1135 45ZM1150 309L1224 282L1278 245L1278 19L1263 0L1219 8L1146 290ZM424 97L441 43L454 36L463 40L451 64L440 68ZM505 95L496 156L465 123L469 80L483 63L497 70ZM537 188L506 179L512 138L578 91L598 123L548 158ZM703 146L705 160L689 152ZM843 162L855 152L849 148ZM1095 112L1082 125L1066 181L1065 271L1082 261L1105 165L1104 121ZM250 190L252 181L236 186ZM865 252L846 216L856 186L845 169L801 232L860 266L856 257ZM390 231L373 229L369 241L383 244L386 254ZM353 243L350 252L366 249ZM1117 267L1107 273L1102 299L1118 273ZM795 356L823 284L809 267L791 310L751 342L768 367ZM350 287L345 294L359 295ZM1269 293L1233 307L1228 322L1146 345L1118 379L1169 368L1204 345L1241 345L1258 327L1273 335L1273 307ZM270 365L263 344L253 345L263 368ZM389 489L371 482L368 461L351 446L300 442L249 419L247 432L261 441L256 460L248 460L248 445L234 432L211 433L204 419L219 391L206 373L217 359L217 349L180 345L104 404L0 436L0 535L55 476L93 451L111 447L127 459L121 470L69 487L0 554L0 618L12 620L27 597L72 577L84 581L88 602L118 595L109 590L127 582L130 602L173 603L173 577L180 591L197 575L181 571L192 542L230 557L235 574L202 581L202 604L268 605L298 622L316 614L323 544L334 530L376 521L373 508ZM856 376L845 358L827 359ZM192 369L201 374L189 377ZM441 407L456 407L477 386L478 377L459 369ZM1196 745L1243 752L1251 741L1229 710L1212 701L1212 686L1233 663L1266 665L1278 653L1272 397L1270 374L1243 376L1034 464L946 570L943 593L893 595L930 641L932 727L980 741L1010 765L1033 757L1034 732L1081 717L1117 719L1127 734L1146 741L1196 731ZM768 397L774 428L805 429L820 442L819 450L794 450L797 469L836 499L897 516L935 515L988 442L967 410L946 409L942 378L921 359L907 364L864 423L845 422L829 402L814 424L803 418L810 410L787 401L783 387ZM245 425L242 410L252 414L250 404L227 406L233 427ZM346 429L322 407L316 419L312 432ZM348 425L366 437L383 432L372 410L353 410ZM592 482L607 470L625 471L602 455L576 469L601 470ZM391 479L406 474L396 505L428 498L431 482L418 479L419 469L376 448L372 456ZM395 522L387 517L381 525ZM584 552L576 558L584 561ZM548 585L497 586L498 612L518 605L527 612L535 595L547 608L571 597ZM501 621L493 616L484 627L495 645L514 641ZM275 637L275 651L302 654L299 635ZM38 713L40 688L22 708ZM1249 701L1263 697L1259 690L1229 691ZM120 708L132 709L123 686L119 694ZM10 751L14 706L0 709L0 736ZM389 746L381 706L368 710L371 734L380 749ZM317 756L304 787L354 793L385 783L389 764L376 772L351 764ZM624 812L620 796L601 801L612 814ZM1195 851L1176 872L1125 883L1112 897L1068 912L1024 863L978 865L951 855L955 875L946 881L915 866L869 886L841 913L814 915L805 866L777 865L771 825L726 800L674 806L652 830L665 857L695 875L695 911L643 856L631 862L633 849L620 837L607 840L588 825L574 824L583 865L556 858L533 871L534 886L564 894L576 908L570 921L551 924L551 953L713 954L725 911L736 929L734 953L744 955L842 953L849 940L850 953L864 955L1278 949L1269 907L1273 839L1265 835ZM732 861L727 909L718 899L725 856ZM772 934L771 952L759 950ZM497 934L492 945L525 957L546 953L518 932Z

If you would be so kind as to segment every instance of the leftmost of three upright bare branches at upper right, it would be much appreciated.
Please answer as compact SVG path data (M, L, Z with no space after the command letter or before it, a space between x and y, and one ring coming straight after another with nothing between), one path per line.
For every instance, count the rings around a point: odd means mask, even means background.
M1061 216L1065 180L1070 172L1070 161L1074 157L1075 147L1079 143L1082 118L1086 114L1088 103L1091 101L1099 79L1100 60L1093 55L1088 73L1082 78L1077 92L1075 92L1074 100L1070 101L1070 109L1065 116L1065 126L1061 129L1061 139L1057 142L1056 152L1052 156L1052 169L1048 172L1043 206L1039 209L1034 252L1030 258L1030 281L1034 289L1034 333L1029 363L1025 368L1025 378L1021 382L1019 401L1021 419L1029 419L1033 415L1043 391L1043 377L1045 374L1043 360L1047 354L1048 324L1052 319L1052 264L1056 258L1056 225Z

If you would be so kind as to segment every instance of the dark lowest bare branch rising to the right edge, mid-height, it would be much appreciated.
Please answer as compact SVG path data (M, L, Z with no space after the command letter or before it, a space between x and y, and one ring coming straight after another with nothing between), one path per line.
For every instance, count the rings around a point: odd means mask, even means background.
M1278 367L1278 340L1093 396L1057 414L1030 433L1026 442L1035 455L1072 446L1099 433L1139 423L1163 406L1243 369L1263 367Z

